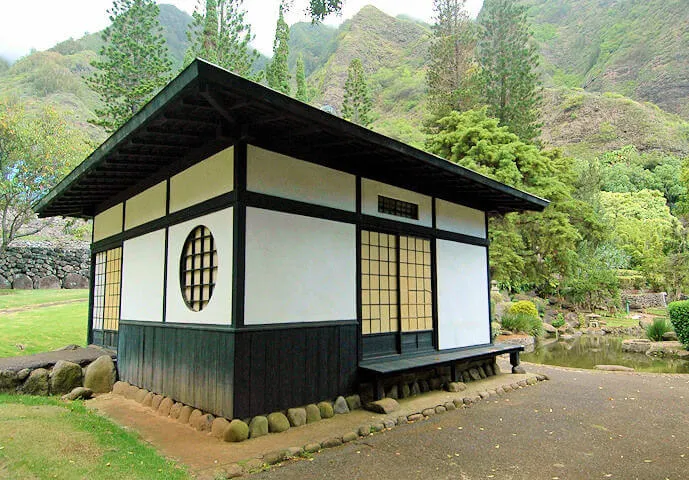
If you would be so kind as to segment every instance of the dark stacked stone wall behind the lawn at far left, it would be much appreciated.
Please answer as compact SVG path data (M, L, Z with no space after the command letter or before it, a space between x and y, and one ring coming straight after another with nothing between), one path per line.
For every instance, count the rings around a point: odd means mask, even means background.
M88 288L88 248L10 247L0 252L0 288Z

